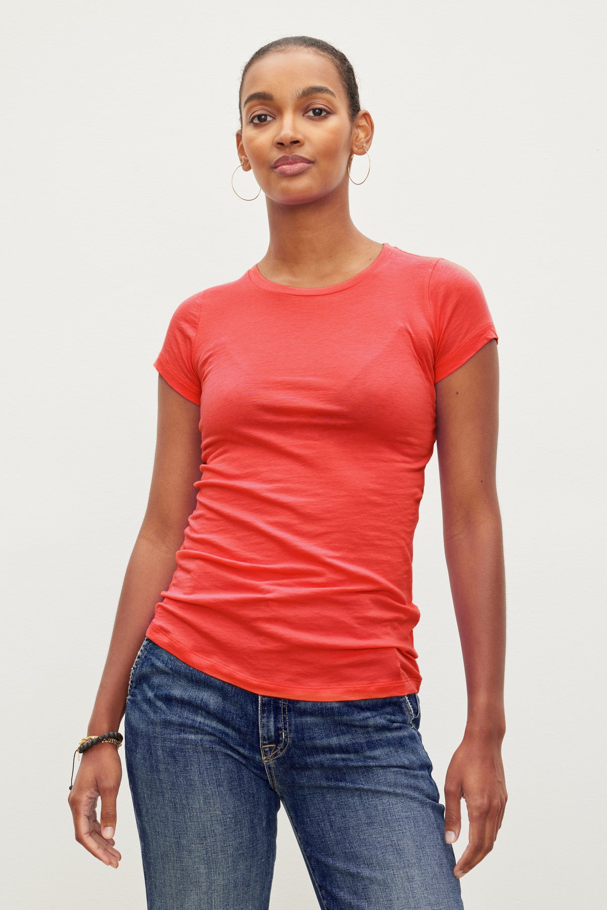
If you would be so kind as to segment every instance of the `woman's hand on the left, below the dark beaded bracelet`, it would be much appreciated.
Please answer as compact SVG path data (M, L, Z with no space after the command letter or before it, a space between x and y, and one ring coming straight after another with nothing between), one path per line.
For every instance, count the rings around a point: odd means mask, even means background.
M106 865L118 868L122 859L114 846L116 796L122 780L122 763L115 743L96 743L80 756L76 780L67 797L72 810L76 841ZM101 820L97 800L101 797Z

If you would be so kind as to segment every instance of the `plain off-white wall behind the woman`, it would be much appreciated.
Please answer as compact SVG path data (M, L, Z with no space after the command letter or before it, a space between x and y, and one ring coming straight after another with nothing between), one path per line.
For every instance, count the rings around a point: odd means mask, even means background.
M599 3L534 0L3 5L6 906L145 908L126 769L115 870L74 839L72 757L147 502L168 319L267 248L263 194L230 186L240 72L299 34L349 56L375 121L355 224L468 268L500 336L510 799L462 879L466 910L600 906L604 18ZM241 170L235 185L258 189ZM466 699L436 454L413 594L442 799ZM278 823L272 910L317 907L284 811Z

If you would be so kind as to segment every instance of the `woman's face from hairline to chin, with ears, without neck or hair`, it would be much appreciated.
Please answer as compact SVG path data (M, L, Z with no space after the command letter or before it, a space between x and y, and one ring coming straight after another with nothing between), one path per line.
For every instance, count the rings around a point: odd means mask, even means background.
M310 86L309 94L298 96ZM266 196L278 203L295 205L326 196L348 181L354 148L362 142L369 148L369 113L362 117L360 136L360 117L354 124L350 121L338 70L323 54L294 48L260 57L245 76L240 104L238 157L245 170L253 170ZM311 164L274 167L278 158L295 155Z

